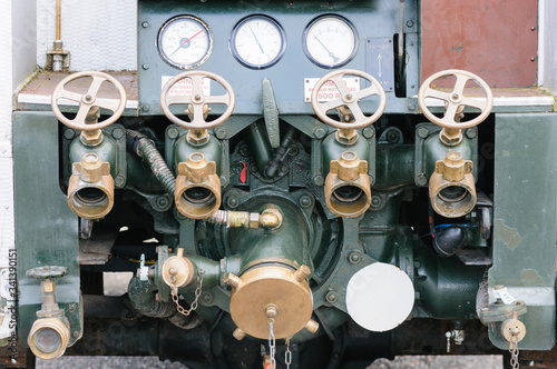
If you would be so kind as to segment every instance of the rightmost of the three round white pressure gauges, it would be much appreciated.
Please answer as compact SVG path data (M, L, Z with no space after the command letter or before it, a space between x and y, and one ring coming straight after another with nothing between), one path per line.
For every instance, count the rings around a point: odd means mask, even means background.
M358 50L358 33L354 26L339 16L314 19L304 30L304 52L321 68L344 66Z

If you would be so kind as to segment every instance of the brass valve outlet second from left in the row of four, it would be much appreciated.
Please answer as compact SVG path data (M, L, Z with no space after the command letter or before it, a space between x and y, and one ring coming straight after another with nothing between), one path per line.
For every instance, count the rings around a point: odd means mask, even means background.
M221 179L216 163L202 152L193 152L186 162L178 163L175 191L176 208L193 219L211 217L221 207Z

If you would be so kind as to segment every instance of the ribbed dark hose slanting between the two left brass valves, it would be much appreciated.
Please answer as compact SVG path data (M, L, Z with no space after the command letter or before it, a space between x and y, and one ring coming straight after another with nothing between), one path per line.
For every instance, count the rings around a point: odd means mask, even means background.
M158 152L155 143L146 136L128 129L126 130L126 146L139 158L143 158L147 161L150 170L160 182L165 191L174 197L176 178L166 164L166 161L160 152Z

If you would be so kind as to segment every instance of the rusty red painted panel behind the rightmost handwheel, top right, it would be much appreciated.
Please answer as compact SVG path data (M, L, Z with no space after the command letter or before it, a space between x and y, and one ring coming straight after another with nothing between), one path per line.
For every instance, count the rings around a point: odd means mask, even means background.
M421 0L421 80L465 69L491 87L536 84L537 0Z

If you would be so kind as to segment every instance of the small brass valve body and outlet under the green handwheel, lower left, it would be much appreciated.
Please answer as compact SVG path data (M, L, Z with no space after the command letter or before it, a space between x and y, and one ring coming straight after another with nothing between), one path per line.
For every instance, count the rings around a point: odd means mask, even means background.
M33 322L27 343L41 359L56 359L63 355L70 339L69 322L63 309L59 309L56 302L56 283L46 279L41 283L42 306L37 311L37 320Z

